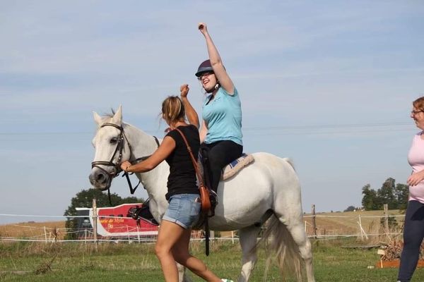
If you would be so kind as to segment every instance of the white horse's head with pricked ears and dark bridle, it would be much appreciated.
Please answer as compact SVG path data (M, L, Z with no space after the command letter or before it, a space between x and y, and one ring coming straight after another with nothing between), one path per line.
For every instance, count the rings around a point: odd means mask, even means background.
M93 138L94 160L91 163L90 183L100 190L110 188L112 179L121 172L119 164L131 157L122 125L122 107L113 116L102 118L96 112L98 130Z

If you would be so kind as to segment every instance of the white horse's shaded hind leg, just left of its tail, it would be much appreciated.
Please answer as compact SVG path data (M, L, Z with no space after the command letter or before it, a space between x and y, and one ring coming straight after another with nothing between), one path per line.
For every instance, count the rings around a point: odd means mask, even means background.
M249 276L257 262L257 237L261 231L260 227L249 226L240 229L240 246L242 247L242 273L238 278L238 282L249 281Z

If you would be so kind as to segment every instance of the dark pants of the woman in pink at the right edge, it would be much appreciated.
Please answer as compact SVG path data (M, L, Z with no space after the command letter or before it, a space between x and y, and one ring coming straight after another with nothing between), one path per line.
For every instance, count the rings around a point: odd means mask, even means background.
M411 281L413 271L418 264L420 245L424 238L424 204L409 201L406 208L404 226L404 250L401 255L398 280Z

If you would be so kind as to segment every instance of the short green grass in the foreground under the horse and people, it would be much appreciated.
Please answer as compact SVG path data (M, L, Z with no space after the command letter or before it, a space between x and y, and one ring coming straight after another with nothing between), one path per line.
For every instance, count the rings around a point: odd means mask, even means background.
M341 247L347 244L358 245L343 240L313 243L318 282L396 281L397 269L367 268L379 260L377 250ZM211 245L211 255L206 257L203 243L194 242L192 253L218 276L237 280L240 273L238 244L215 242ZM263 281L265 257L264 252L259 251L259 262L250 281ZM193 281L201 281L191 277ZM163 281L163 276L153 245L102 243L95 252L93 245L83 243L0 243L0 281L156 282ZM271 267L266 281L283 281L275 266ZM412 281L424 281L423 269L417 269Z

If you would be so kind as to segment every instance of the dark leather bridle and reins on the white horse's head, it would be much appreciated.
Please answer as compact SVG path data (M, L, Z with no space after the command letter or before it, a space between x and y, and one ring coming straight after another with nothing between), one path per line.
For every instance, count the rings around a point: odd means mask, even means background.
M119 130L117 147L115 148L114 153L112 154L112 157L110 158L110 161L93 161L91 163L91 169L93 169L93 168L100 169L100 171L103 171L104 173L111 176L110 181L112 181L112 178L119 176L119 173L121 173L121 171L122 171L120 165L121 165L121 161L122 161L122 151L124 150L124 140L126 140L126 144L128 144L128 147L129 147L129 154L130 154L129 159L130 159L130 161L131 161L131 156L132 156L132 149L131 149L131 144L129 144L128 138L126 138L126 135L124 133L124 128L122 126L116 125L114 123L104 123L100 126L100 128L104 128L105 126L112 126L112 127L117 128ZM158 138L156 138L155 136L153 136L153 137L155 138L156 145L158 145L158 147L159 147ZM118 160L117 160L117 163L114 164L113 159L114 159L114 157L117 153L119 154ZM137 158L137 159L134 160L134 162L143 161L150 156L151 155ZM115 168L115 172L110 173L109 171L107 171L105 168L102 168L101 166L113 166ZM139 181L139 184L136 185L136 187L132 188L131 181L129 180L129 173L124 171L124 175L122 177L124 177L124 176L126 176L126 180L128 181L128 185L129 185L129 191L131 192L131 195L132 195L136 191L137 187L139 187L140 181ZM108 189L108 193L110 195L110 188Z

